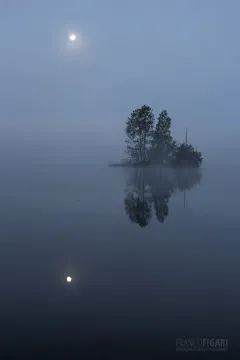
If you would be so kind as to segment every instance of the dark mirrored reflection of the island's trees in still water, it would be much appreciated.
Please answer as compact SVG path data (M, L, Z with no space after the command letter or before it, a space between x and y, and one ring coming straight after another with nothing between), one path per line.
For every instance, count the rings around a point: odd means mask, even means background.
M149 224L153 209L156 219L163 223L169 215L168 202L176 191L191 190L201 180L199 169L132 169L129 176L125 212L141 227Z

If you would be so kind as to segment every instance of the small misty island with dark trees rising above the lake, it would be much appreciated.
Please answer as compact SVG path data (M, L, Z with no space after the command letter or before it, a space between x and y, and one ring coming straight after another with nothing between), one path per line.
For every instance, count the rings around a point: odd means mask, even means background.
M163 165L171 167L199 167L202 154L192 145L178 143L171 135L172 119L166 110L157 121L151 107L143 105L134 110L126 121L126 154L128 158L116 167L145 167Z

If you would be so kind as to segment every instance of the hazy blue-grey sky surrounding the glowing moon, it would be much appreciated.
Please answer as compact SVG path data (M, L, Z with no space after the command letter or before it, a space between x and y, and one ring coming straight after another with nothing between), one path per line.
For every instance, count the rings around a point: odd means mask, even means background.
M1 150L117 160L147 103L206 160L239 152L239 13L238 0L1 0Z

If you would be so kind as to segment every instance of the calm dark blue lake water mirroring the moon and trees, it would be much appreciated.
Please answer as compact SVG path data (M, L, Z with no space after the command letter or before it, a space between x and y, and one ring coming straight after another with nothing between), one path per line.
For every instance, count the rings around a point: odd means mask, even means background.
M239 184L231 166L5 166L0 355L159 359L177 338L209 336L230 353Z

